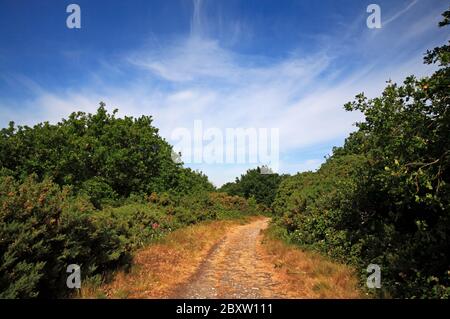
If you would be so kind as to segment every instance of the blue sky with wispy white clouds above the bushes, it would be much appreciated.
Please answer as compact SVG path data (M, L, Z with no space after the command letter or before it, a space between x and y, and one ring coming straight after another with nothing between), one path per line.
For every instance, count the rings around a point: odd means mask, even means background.
M66 7L81 8L69 29ZM381 28L366 11L381 9ZM430 75L445 0L0 0L0 127L95 112L173 132L276 128L279 173L315 170L355 130L343 105ZM208 141L204 141L206 145ZM248 151L250 152L250 151ZM185 162L186 160L183 159ZM264 163L259 163L264 164ZM255 163L187 163L217 186Z

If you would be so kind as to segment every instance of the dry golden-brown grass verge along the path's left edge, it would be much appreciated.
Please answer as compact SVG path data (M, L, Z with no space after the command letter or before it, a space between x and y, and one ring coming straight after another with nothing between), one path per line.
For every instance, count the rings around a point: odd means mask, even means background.
M210 249L240 221L213 221L168 234L134 255L129 272L119 271L110 283L85 284L82 298L168 298L196 271Z

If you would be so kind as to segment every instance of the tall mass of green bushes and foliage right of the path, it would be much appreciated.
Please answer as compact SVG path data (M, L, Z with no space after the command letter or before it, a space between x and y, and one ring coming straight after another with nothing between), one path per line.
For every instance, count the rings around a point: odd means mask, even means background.
M294 241L356 265L364 282L380 265L384 296L450 297L449 61L449 46L436 48L432 76L346 104L365 116L358 130L317 172L284 180L273 204Z

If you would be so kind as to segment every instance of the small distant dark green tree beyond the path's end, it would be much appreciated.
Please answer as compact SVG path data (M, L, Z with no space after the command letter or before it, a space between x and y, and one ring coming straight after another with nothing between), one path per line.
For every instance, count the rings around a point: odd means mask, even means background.
M224 184L220 191L245 198L253 197L257 203L270 207L283 176L265 170L268 168L264 166L249 169L234 183Z

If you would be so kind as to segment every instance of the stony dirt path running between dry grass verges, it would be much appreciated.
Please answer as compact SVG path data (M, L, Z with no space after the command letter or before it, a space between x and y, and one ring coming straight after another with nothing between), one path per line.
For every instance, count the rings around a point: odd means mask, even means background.
M268 218L234 227L204 259L177 298L283 298L273 264L261 254Z

